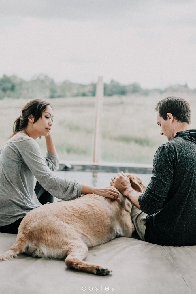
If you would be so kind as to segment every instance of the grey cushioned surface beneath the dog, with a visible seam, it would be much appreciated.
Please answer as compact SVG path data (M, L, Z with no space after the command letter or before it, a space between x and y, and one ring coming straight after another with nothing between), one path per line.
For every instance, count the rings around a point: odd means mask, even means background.
M15 240L16 235L0 233L0 253ZM113 273L96 276L67 268L64 260L22 254L0 263L0 293L196 293L196 246L166 247L116 238L91 248L86 261L108 265Z

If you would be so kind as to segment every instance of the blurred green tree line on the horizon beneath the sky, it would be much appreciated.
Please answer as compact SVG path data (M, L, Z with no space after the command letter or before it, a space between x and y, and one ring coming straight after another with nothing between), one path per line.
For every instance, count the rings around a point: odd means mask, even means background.
M190 90L185 85L175 85L164 90L161 89L143 89L138 83L131 83L129 85L122 85L117 81L111 80L110 83L104 83L104 95L129 95L138 93L140 95L148 96L152 92L164 93L167 91L194 91ZM95 96L96 83L84 85L81 83L72 83L70 81L63 81L56 83L47 75L38 75L26 81L18 76L3 75L0 78L0 99L4 98L57 98L57 97L77 97L77 96Z

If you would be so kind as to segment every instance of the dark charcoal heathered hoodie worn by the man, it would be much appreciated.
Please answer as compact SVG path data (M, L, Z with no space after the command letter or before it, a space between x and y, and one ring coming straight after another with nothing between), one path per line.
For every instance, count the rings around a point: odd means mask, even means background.
M196 245L196 130L177 132L154 156L153 176L139 196L147 242Z

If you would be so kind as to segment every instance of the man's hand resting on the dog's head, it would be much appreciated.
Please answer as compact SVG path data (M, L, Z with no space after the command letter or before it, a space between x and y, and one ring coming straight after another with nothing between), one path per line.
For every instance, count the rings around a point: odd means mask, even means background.
M123 195L127 196L130 191L133 191L129 178L123 172L113 176L111 180L110 185L117 188Z

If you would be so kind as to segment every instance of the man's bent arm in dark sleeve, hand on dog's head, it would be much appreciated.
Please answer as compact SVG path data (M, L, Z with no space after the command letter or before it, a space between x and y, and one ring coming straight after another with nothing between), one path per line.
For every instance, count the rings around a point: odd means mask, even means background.
M117 184L118 187L116 183L121 181L118 180L115 182L116 177L113 180L115 184L112 184L112 182L110 184L117 189L121 188L121 184L122 188L124 188L122 192L119 191L125 196L129 195L129 199L143 212L152 215L163 207L163 203L173 184L175 165L176 157L172 146L163 144L155 153L153 160L153 176L144 193L133 193L132 187L130 188L131 184L128 184L128 178L126 182L125 179L121 178L122 183L119 183L119 185Z

